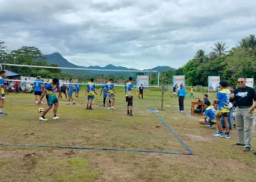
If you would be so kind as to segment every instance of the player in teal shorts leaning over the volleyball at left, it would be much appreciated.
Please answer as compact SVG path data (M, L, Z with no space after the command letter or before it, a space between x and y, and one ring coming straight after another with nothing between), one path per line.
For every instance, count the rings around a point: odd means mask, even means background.
M45 111L42 113L42 116L39 117L40 121L47 121L48 119L45 119L45 115L50 111L50 109L53 107L53 119L59 119L57 116L57 111L59 107L59 100L55 95L56 90L59 92L59 98L62 98L61 95L61 88L59 87L59 79L54 78L52 81L45 84L45 91L42 93L38 105L42 102L42 98L45 97L47 99L47 108L45 108Z

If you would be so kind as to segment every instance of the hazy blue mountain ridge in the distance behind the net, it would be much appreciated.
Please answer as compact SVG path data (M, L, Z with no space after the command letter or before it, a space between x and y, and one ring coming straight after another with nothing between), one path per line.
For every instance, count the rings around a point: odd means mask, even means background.
M68 60L66 60L65 58L63 58L63 56L61 54L59 54L59 52L55 52L53 54L50 55L45 55L45 58L47 58L48 63L53 63L58 65L59 67L68 67L68 68L91 68L91 69L111 69L111 70L135 70L134 68L126 68L123 66L113 66L112 64L105 66L105 67L100 67L100 66L78 66L75 65L73 63L70 63ZM156 68L152 68L151 70L154 71L167 71L167 70L176 70L175 68L171 68L170 66L157 66ZM148 71L148 70L146 70ZM63 70L63 72L65 73L86 73L86 74L120 74L115 72L115 71L104 71L104 73L100 73L100 71L77 71L77 70ZM125 73L125 72L124 72ZM122 73L122 74L124 74ZM127 74L127 73L126 73Z

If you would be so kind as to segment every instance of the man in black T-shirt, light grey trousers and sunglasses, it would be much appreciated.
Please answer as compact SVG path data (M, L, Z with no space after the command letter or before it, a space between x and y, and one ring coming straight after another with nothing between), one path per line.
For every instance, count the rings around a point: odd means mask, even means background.
M238 143L233 146L245 146L244 151L251 151L253 111L256 108L255 90L246 86L246 78L239 77L238 89L233 92L231 98L234 98L236 103L236 127L238 131Z

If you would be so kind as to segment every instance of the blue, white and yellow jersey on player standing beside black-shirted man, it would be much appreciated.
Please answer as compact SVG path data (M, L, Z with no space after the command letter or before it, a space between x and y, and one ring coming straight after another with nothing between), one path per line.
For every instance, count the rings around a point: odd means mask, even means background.
M217 111L221 113L229 113L229 103L230 103L230 96L231 92L230 90L224 89L220 90L217 93L217 100L219 100Z

